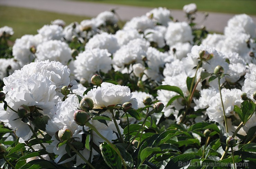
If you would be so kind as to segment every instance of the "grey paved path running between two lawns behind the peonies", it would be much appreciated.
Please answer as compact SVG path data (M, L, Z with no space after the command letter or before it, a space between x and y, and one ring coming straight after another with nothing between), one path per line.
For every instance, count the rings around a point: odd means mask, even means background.
M153 8L145 7L131 7L118 4L102 4L81 1L69 0L0 0L0 6L23 7L37 10L82 15L88 17L95 17L100 12L116 9L122 20L130 20L132 17L146 14ZM1 12L1 11L0 11ZM185 21L185 13L181 10L171 10L172 16L179 21ZM227 21L234 16L234 14L214 13L208 12L209 17L203 21L204 13L197 12L196 23L206 26L207 30L214 32L223 32ZM252 16L256 23L256 16Z

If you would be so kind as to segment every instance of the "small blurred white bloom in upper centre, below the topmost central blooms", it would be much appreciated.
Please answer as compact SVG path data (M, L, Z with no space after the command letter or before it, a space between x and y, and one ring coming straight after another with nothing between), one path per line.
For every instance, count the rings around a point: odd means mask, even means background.
M143 34L139 34L136 29L118 30L115 34L119 46L126 45L130 40L143 39Z

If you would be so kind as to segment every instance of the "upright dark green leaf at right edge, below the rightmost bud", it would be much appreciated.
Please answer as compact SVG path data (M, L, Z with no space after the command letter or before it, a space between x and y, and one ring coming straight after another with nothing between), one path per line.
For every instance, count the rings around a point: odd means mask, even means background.
M255 103L253 101L244 101L241 103L241 110L244 115L244 123L246 123L249 117L255 112Z

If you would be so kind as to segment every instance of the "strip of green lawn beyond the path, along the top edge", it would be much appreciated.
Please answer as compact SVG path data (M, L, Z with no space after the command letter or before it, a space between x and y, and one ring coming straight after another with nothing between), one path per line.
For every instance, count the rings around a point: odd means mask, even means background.
M166 7L182 10L185 4L196 3L199 11L246 13L256 15L256 0L75 0L98 3L114 3L139 7Z

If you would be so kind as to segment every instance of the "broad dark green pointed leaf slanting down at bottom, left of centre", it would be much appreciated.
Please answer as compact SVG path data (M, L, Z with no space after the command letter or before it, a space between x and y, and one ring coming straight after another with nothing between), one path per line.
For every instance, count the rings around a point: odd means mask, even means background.
M111 169L122 169L122 161L117 152L106 142L100 144L100 151L104 161Z

